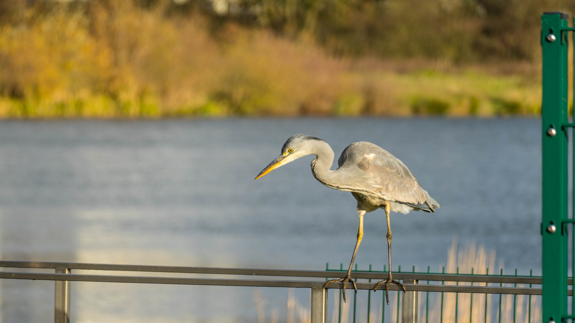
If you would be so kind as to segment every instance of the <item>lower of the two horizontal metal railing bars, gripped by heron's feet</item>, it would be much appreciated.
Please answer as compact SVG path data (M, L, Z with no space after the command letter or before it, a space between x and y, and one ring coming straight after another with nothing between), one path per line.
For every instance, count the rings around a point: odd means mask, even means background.
M41 281L76 281L76 282L112 282L112 283L151 283L175 285L211 285L211 286L251 286L251 287L297 287L322 288L325 282L310 281L271 281L248 279L213 279L213 278L179 278L179 277L140 277L140 276L109 276L109 275L79 275L79 274L45 274L45 273L11 273L0 272L0 278L32 279ZM358 289L373 289L375 283L356 283ZM454 286L454 285L423 285L404 284L406 290L412 291L444 291L451 293L486 293L486 294L521 294L541 295L539 288L523 287L492 287L492 286ZM342 283L331 283L330 289L341 289ZM348 283L348 289L353 285ZM397 285L390 285L390 290L400 290ZM569 291L571 292L571 291Z

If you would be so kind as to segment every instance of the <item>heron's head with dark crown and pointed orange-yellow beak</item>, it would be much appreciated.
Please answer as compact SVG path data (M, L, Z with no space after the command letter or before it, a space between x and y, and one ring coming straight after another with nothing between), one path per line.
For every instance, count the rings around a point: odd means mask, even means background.
M272 170L278 168L279 166L283 166L289 162L293 162L297 158L304 157L306 155L313 154L315 150L315 143L317 141L322 141L316 137L310 137L302 134L294 135L293 137L287 139L286 143L283 144L282 153L279 154L278 158L275 158L270 165L267 165L266 168L262 170L256 176L256 180L265 174L271 172Z

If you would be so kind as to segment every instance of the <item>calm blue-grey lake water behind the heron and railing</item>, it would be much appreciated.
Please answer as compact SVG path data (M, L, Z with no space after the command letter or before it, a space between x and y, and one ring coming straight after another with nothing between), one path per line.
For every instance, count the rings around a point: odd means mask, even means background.
M313 178L314 157L254 181L287 138L303 133L327 141L336 157L355 141L383 147L441 204L431 215L392 213L394 269L438 271L458 238L495 250L507 273L539 274L539 131L538 119L1 122L0 258L346 266L355 199ZM360 269L383 268L385 232L384 211L366 215ZM284 320L287 289L260 291ZM253 292L72 282L72 321L256 322ZM309 291L296 297L305 307ZM3 280L0 298L2 323L53 322L53 282Z

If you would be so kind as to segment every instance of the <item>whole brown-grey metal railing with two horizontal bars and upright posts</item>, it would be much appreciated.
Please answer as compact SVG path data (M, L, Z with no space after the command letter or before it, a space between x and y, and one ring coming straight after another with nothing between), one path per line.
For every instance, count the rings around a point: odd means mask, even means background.
M309 288L312 291L310 302L310 315L312 323L324 323L327 318L327 288L342 289L342 283L330 284L324 287L325 281L283 281L276 279L220 279L220 278L188 278L188 277L147 277L129 275L91 275L72 274L71 270L104 270L104 271L132 271L148 273L187 273L187 274L216 274L216 275L249 275L249 276L275 276L275 277L308 277L330 278L341 277L342 270L277 270L277 269L248 269L248 268L210 268L210 267L179 267L179 266L143 266L129 264L96 264L96 263L69 263L69 262L22 262L0 261L4 268L52 268L51 273L19 273L0 271L0 279L33 279L55 281L55 323L70 322L70 282L117 282L117 283L153 283L177 285L212 285L212 286L251 286L251 287L296 287ZM353 271L352 276L357 279L385 279L385 271ZM430 274L430 273L394 273L394 278L402 279L407 293L406 299L416 299L416 291L440 293L481 293L481 294L515 294L515 295L541 295L542 289L531 288L540 285L540 277L508 276L508 275L462 275L462 274ZM418 284L417 281L435 281L438 284ZM442 282L442 285L439 285ZM444 282L481 282L499 283L499 286L456 286L443 285ZM530 284L525 287L503 287L503 284ZM570 281L570 283L572 283ZM473 285L473 284L471 284ZM357 282L361 290L371 290L375 287L372 282ZM346 286L352 289L351 283ZM390 285L390 290L400 290L397 285ZM572 295L572 290L569 290ZM410 298L411 297L411 298ZM403 302L403 307L415 302ZM415 306L415 305L413 305ZM415 307L411 309L415 311ZM412 311L412 312L413 312ZM415 313L415 312L414 312ZM407 317L407 316L406 316ZM409 320L408 320L409 321ZM407 322L404 320L404 322ZM409 321L410 323L413 323Z

